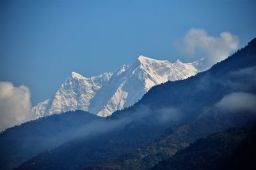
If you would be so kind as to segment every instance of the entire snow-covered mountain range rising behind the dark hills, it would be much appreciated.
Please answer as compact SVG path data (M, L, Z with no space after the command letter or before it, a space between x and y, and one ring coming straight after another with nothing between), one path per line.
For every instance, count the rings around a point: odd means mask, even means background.
M138 102L155 85L184 80L199 72L200 61L182 63L177 60L155 60L140 56L131 66L122 66L115 73L86 78L72 72L56 94L31 109L34 118L55 113L83 110L108 117Z

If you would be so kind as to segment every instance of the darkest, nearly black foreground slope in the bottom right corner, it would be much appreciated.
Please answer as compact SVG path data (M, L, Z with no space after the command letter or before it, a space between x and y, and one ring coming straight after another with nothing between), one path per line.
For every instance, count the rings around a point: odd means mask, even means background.
M256 121L200 138L152 170L255 169Z

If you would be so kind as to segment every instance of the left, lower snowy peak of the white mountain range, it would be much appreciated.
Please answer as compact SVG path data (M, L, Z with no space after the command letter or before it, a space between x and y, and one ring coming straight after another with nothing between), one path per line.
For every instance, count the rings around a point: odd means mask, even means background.
M55 96L38 103L31 109L35 118L62 113L66 111L88 111L90 100L97 91L111 77L112 73L104 73L92 78L85 78L81 74L72 72L56 92Z

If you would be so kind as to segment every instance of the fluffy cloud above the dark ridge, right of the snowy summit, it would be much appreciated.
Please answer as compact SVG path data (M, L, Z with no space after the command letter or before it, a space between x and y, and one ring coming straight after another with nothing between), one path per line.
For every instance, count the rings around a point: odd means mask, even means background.
M204 68L226 59L237 50L239 38L230 32L221 32L220 36L209 36L204 29L190 29L178 47L188 57L204 58Z

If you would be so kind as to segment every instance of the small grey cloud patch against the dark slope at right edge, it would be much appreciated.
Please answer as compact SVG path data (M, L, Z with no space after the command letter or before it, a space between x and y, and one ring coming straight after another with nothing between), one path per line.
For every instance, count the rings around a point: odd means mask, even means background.
M249 111L256 112L256 95L246 92L234 92L224 96L216 107L221 111L239 112Z

